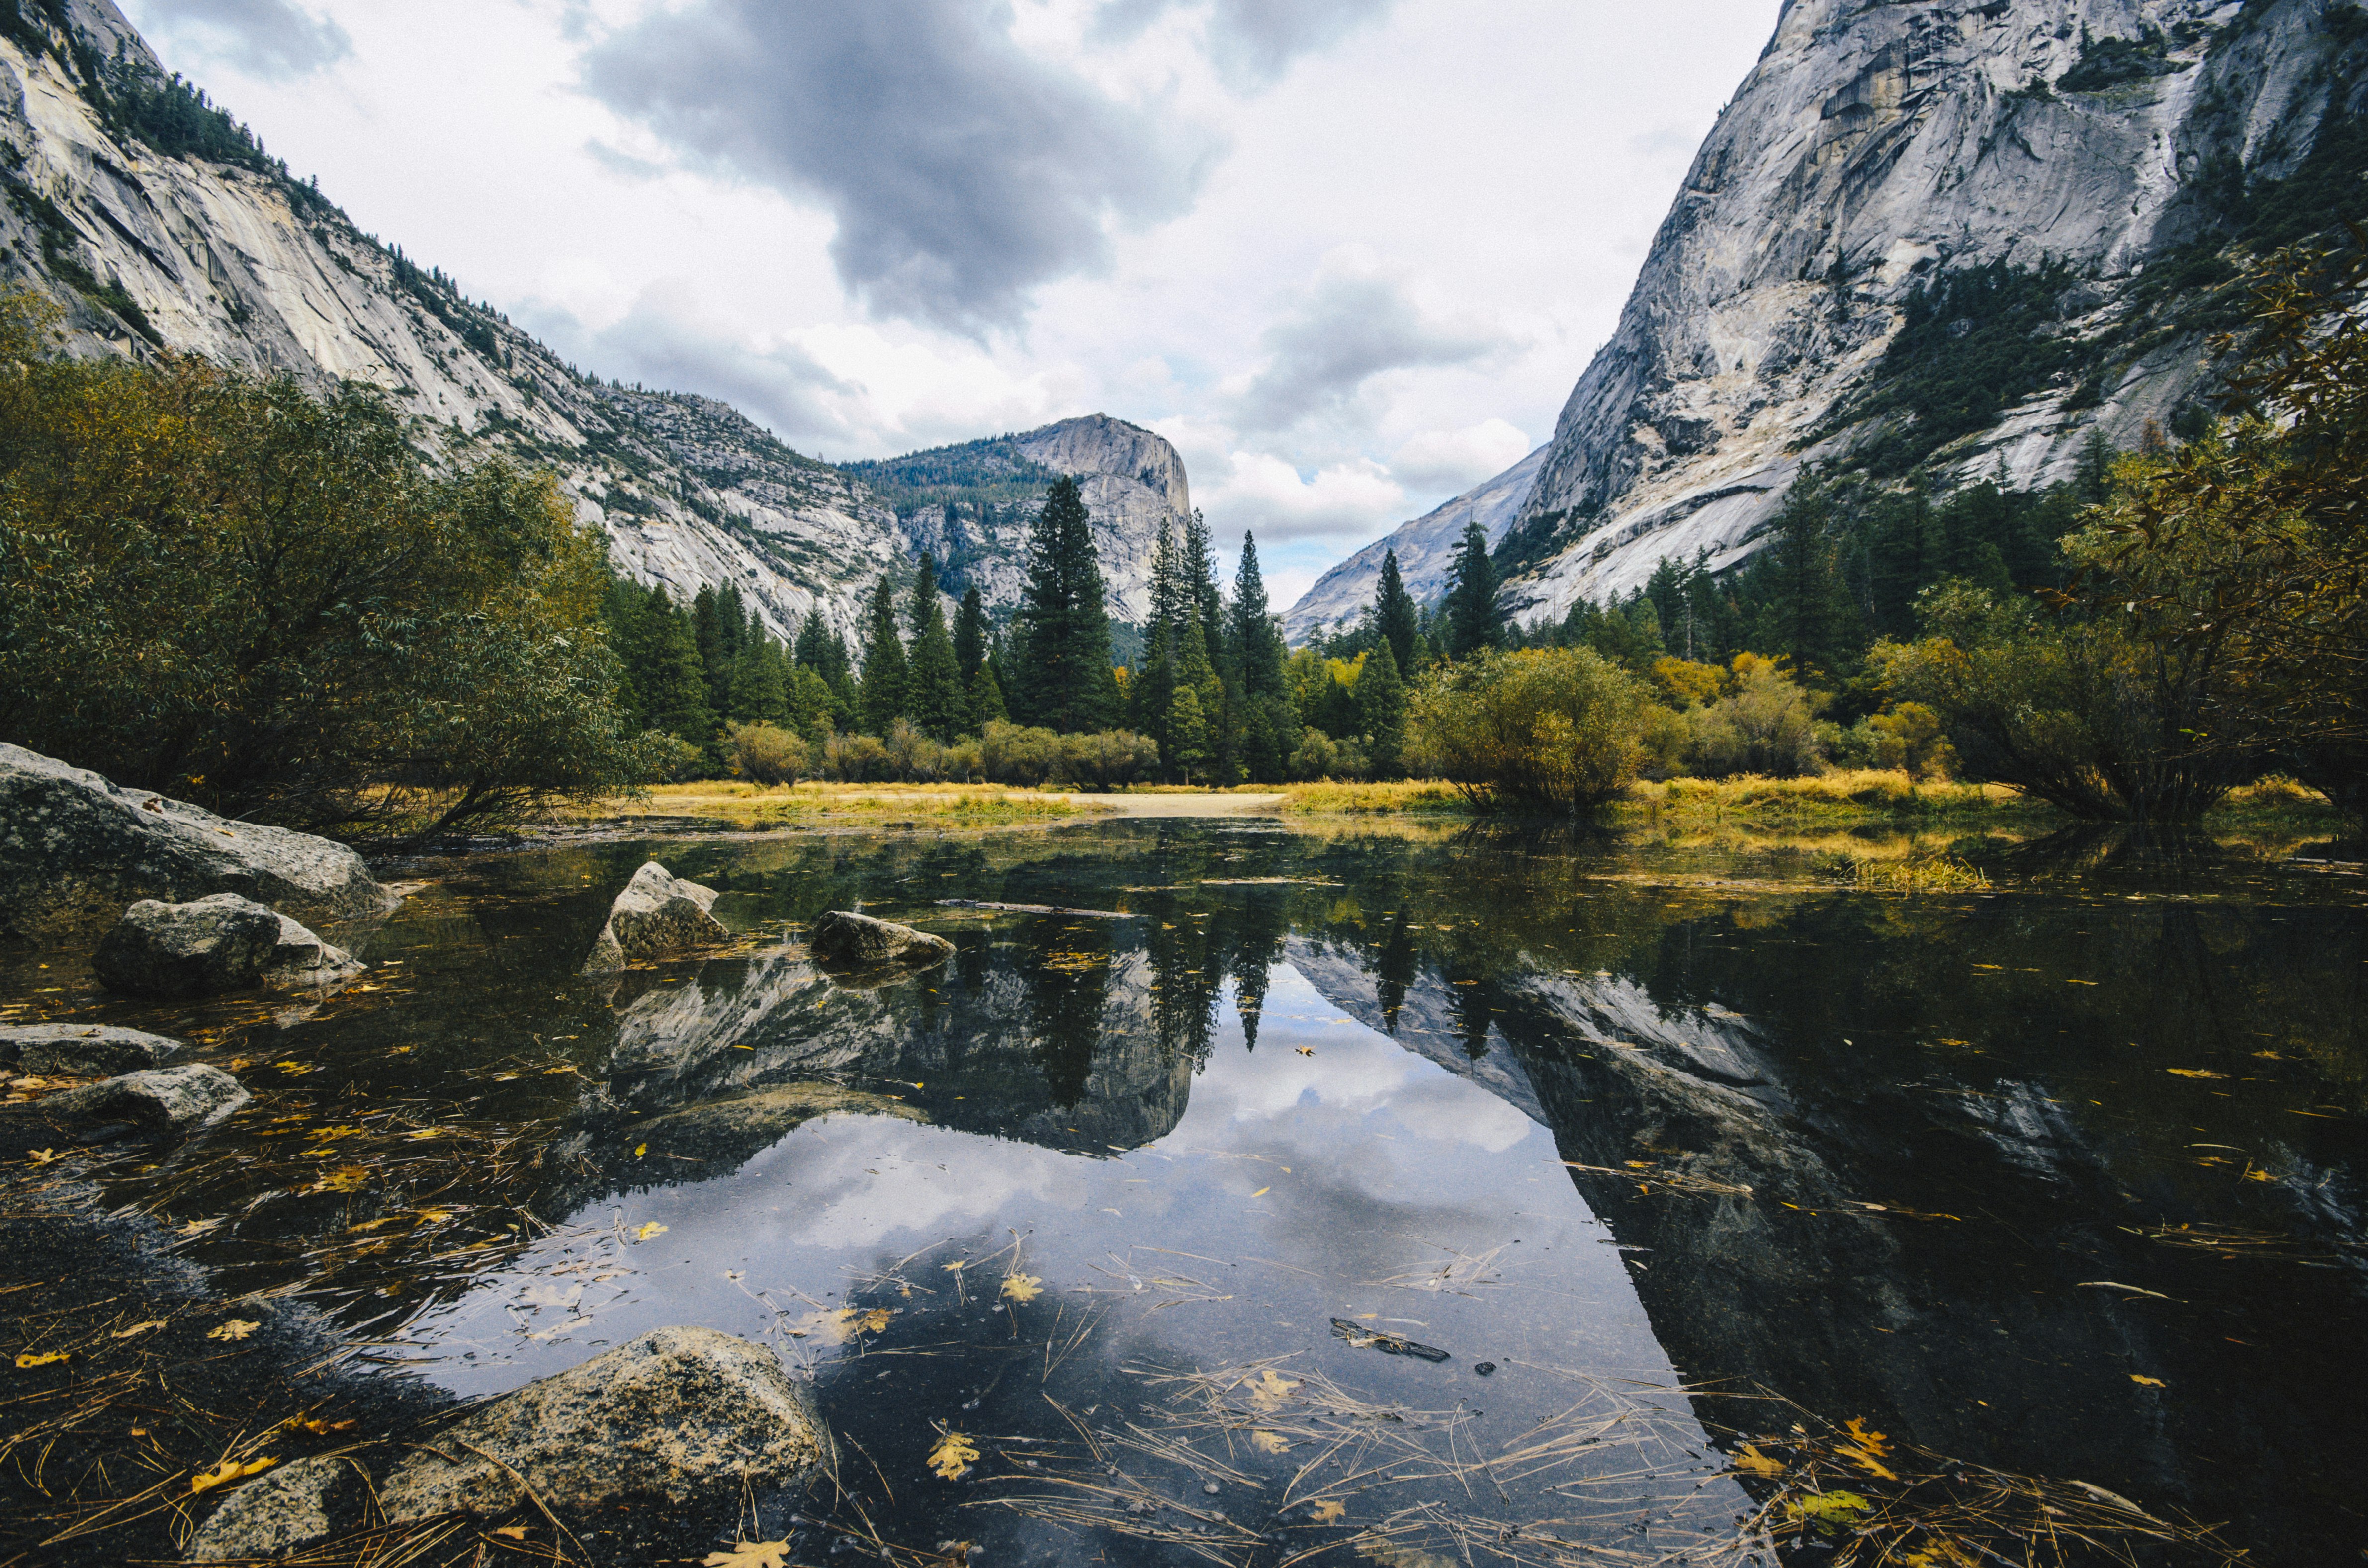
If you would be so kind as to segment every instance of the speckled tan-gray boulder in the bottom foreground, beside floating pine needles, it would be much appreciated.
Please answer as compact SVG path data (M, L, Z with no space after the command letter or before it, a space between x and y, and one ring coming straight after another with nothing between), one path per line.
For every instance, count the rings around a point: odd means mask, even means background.
M772 1350L720 1329L654 1329L502 1395L412 1450L379 1487L386 1523L552 1511L623 1497L736 1497L834 1464L831 1433Z

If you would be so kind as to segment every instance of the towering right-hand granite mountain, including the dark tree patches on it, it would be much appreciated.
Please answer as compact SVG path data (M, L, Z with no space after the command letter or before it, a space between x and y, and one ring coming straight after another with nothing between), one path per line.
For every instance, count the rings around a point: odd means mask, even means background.
M1745 559L1804 464L2072 476L2190 429L2240 263L2368 216L2354 0L1788 0L1499 561L1523 621Z

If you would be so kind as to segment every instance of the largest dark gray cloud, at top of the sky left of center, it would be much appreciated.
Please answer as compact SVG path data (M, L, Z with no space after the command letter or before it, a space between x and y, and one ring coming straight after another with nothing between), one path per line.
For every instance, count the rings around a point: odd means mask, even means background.
M1208 152L1021 50L992 0L699 0L597 45L585 81L691 154L822 197L874 313L971 334L1106 265L1113 220L1184 211Z

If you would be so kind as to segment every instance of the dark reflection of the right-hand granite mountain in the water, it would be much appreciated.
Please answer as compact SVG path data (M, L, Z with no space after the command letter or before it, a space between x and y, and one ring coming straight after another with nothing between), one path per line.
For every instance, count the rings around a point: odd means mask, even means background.
M1854 1014L1864 1030L1887 1002L1849 992L1845 976L1875 990L1904 978L1883 976L1885 964L1913 969L1935 952L1920 933L1854 931L1864 907L1804 905L1790 921L1759 924L1750 955L1695 955L1691 971L1648 945L1643 966L1620 978L1537 973L1511 950L1478 973L1426 952L1414 973L1390 981L1385 936L1364 947L1293 938L1288 957L1326 1000L1376 1028L1385 1026L1383 997L1402 990L1395 1037L1407 1049L1544 1120L1565 1161L1594 1168L1572 1170L1572 1182L1617 1241L1639 1248L1624 1253L1639 1300L1688 1379L1762 1386L1830 1419L1875 1416L1942 1452L2079 1476L2150 1506L2235 1516L2238 1540L2257 1551L2311 1556L2321 1542L2309 1530L2325 1528L2342 1485L2325 1450L2347 1426L2359 1376L2311 1386L2299 1369L2316 1357L2299 1343L2287 1357L2247 1345L2261 1343L2264 1315L2361 1324L2351 1272L2233 1262L2143 1239L2141 1225L2179 1201L2179 1172L2193 1175L2193 1153L2176 1144L2216 1137L2181 1132L2188 1116L2117 1116L2124 1132L2100 1137L2096 1106L2110 1090L2072 1087L2065 1078L2077 1082L2081 1068L2046 1052L1963 1071L1902 1047L1906 1030L1885 1028L1890 1042L1845 1040L1842 1018ZM2086 936L2072 931L2084 924L2067 914L2067 931L2034 921L2013 936L2046 947ZM2179 926L2179 912L2167 926ZM1864 947L1835 955L1845 938ZM2188 1009L2207 1007L2209 973L2245 952L2226 928L2219 940L2219 959L2190 955L2198 995ZM1819 945L1828 950L1819 964L1783 957ZM1854 971L1861 959L1866 971ZM2034 1018L2063 1018L2060 1009L2020 1011L2027 1002L2003 990L1968 995L1963 952L1946 959L1956 990L1918 1002L1954 1014L1965 1035L1996 1023L2001 1054L2018 1033L2036 1033ZM1705 992L1743 1011L1698 1002ZM1473 1009L1492 1023L1482 1056L1461 1045ZM2138 1007L2119 1011L2129 1033L2143 1033L2129 1023ZM2278 1018L2245 1023L2261 1033ZM2060 1033L2048 1028L2048 1037ZM2169 1149L2155 1146L2162 1137ZM2325 1163L2299 1168L2318 1172L2323 1206L2344 1206L2335 1196L2344 1182L2328 1180ZM1688 1194L1667 1175L1729 1191ZM1748 1196L1733 1191L1745 1187ZM2228 1177L2224 1187L2240 1184ZM2226 1199L2216 1203L2202 1215L2228 1213ZM2342 1236L2344 1225L2309 1220L2302 1234L2311 1232ZM2136 1281L2160 1296L2093 1281ZM2157 1397L2134 1374L2186 1383L2186 1395ZM1703 1416L1783 1424L1722 1397L1705 1397ZM2311 1504L2264 1504L2280 1487Z

